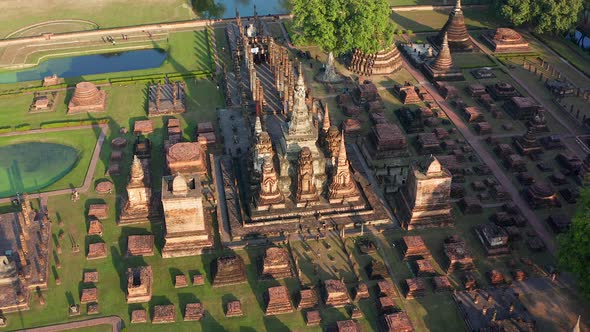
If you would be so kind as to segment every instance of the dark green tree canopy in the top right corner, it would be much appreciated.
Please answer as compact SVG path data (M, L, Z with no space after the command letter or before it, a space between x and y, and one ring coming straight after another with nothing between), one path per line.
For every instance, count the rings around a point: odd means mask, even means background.
M580 18L585 0L499 0L500 13L514 25L529 24L537 33L564 33Z

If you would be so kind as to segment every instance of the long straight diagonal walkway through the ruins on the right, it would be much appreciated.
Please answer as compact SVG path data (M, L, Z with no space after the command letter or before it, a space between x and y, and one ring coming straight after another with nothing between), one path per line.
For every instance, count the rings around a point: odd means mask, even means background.
M482 145L482 141L479 139L479 137L471 132L461 117L455 113L455 110L447 105L445 100L441 97L434 86L432 86L432 84L426 80L420 71L410 65L406 59L404 59L404 67L418 82L422 82L422 86L432 95L434 100L446 113L447 117L453 122L455 127L457 127L465 139L471 144L473 149L481 158L482 162L490 167L494 176L498 179L506 191L508 191L512 197L512 201L520 208L524 217L535 229L543 242L545 242L549 251L555 252L555 242L553 236L551 236L551 234L549 234L549 232L545 229L545 226L539 217L537 217L533 210L531 210L528 203L522 198L518 189L514 186L508 176L506 176L506 173L504 173L504 170L498 165L494 157L488 152L485 146Z

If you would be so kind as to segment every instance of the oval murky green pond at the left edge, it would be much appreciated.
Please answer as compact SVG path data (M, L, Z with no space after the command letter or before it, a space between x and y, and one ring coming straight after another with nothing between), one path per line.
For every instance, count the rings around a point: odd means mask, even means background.
M64 177L78 161L73 147L43 142L0 147L0 197L43 189Z

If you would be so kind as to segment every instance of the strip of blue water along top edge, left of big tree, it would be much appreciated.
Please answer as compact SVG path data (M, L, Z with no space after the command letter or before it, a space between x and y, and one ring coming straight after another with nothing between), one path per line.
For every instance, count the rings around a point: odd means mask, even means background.
M254 16L254 5L258 15L289 13L289 0L192 0L195 9L202 17L236 17L236 9L240 16Z

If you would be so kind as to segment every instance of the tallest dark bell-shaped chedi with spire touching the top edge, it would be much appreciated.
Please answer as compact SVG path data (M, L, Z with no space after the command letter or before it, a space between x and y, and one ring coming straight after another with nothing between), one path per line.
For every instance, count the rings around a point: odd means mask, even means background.
M448 35L449 47L453 52L471 52L473 50L473 42L465 26L461 0L457 0L455 8L449 14L447 23L445 23L438 35L431 40L438 49L442 47L445 34Z

